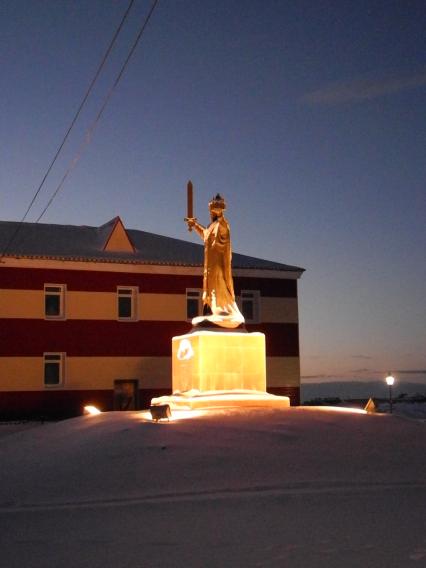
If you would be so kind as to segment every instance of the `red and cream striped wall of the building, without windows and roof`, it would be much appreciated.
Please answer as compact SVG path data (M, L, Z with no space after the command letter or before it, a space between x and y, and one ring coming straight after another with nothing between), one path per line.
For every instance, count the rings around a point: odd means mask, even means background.
M260 323L247 329L266 335L268 390L298 403L297 281L279 276L237 276L235 291L260 291ZM63 318L45 317L45 284L66 286ZM138 287L135 321L117 318L118 286ZM199 268L6 261L0 268L0 416L63 408L67 400L73 408L95 400L107 410L116 379L138 379L141 405L170 392L171 337L190 329L186 290L200 286ZM65 354L61 386L44 385L47 352Z

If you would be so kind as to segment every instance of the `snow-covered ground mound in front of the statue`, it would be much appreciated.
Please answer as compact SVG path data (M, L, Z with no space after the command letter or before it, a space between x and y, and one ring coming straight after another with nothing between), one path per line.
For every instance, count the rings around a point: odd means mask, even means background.
M426 566L426 425L106 413L1 436L0 566Z

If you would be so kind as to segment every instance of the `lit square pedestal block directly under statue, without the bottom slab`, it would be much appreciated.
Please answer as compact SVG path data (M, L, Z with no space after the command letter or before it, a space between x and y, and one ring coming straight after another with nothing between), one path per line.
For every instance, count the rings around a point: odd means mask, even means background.
M263 333L196 331L172 339L173 392L266 391Z

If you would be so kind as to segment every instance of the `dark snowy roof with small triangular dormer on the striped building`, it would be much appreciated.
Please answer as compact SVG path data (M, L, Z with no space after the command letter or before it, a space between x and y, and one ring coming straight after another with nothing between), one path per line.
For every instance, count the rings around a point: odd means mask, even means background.
M146 231L125 229L119 217L100 227L0 221L0 256L202 266L204 247ZM303 268L233 253L233 268L297 271Z

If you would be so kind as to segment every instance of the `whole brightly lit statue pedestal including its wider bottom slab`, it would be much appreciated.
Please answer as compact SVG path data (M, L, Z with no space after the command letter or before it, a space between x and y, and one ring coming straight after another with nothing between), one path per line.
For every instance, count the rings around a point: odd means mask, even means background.
M172 339L173 395L153 398L151 408L287 408L290 399L266 392L265 335L192 331Z

